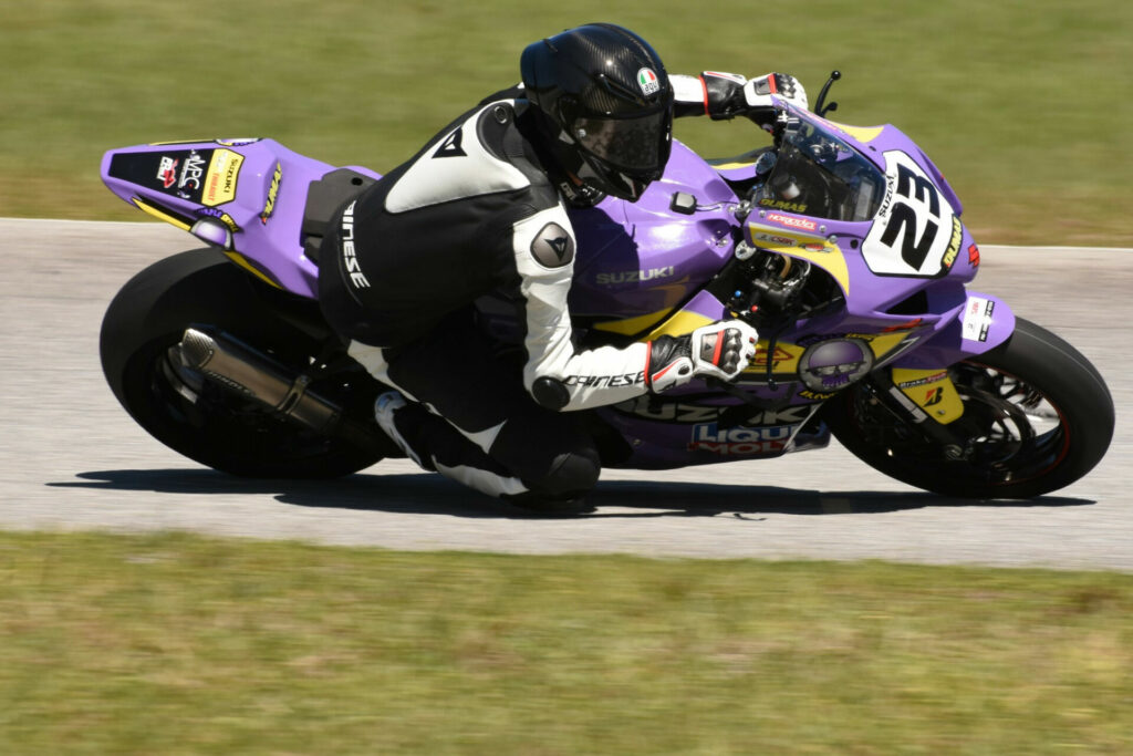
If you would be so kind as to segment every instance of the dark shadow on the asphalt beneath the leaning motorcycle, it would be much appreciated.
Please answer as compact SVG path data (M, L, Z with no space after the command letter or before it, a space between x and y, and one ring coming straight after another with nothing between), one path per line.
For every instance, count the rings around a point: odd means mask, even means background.
M931 493L816 491L768 485L665 481L603 481L581 511L540 513L491 499L435 474L359 473L333 481L252 479L211 469L102 470L78 473L61 489L154 492L173 495L270 495L296 507L443 515L465 518L751 517L759 515L868 515L927 507L1082 507L1072 496L979 501ZM593 508L593 509L591 509Z

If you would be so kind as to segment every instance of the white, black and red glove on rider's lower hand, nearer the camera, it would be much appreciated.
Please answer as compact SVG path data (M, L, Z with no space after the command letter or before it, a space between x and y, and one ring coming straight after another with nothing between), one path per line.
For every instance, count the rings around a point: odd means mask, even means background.
M692 333L649 342L645 384L654 393L695 376L734 381L756 356L756 329L743 321L717 321Z

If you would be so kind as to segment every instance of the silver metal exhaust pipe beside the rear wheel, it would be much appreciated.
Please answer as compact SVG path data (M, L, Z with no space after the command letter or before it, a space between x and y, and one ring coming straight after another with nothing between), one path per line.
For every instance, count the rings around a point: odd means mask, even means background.
M178 345L181 363L206 377L320 433L332 434L341 408L308 392L310 379L296 376L270 356L227 333L187 329Z

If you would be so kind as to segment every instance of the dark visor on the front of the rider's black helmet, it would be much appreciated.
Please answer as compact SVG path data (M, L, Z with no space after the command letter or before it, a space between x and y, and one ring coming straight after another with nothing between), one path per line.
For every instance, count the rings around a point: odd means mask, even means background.
M664 168L667 110L637 118L576 118L573 136L583 150L617 168L656 171ZM665 153L663 155L663 153Z

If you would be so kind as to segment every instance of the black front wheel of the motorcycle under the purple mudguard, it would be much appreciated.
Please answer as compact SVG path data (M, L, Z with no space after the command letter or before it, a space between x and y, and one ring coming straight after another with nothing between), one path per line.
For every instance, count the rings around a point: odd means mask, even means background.
M1046 329L1016 318L1011 338L948 368L964 414L947 427L963 451L926 438L867 387L830 401L837 440L903 483L970 499L1029 499L1093 469L1114 434L1114 401L1098 371ZM932 422L932 421L926 421ZM949 453L952 452L952 453Z

